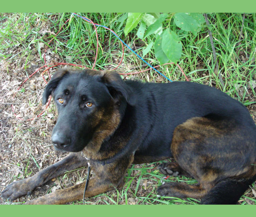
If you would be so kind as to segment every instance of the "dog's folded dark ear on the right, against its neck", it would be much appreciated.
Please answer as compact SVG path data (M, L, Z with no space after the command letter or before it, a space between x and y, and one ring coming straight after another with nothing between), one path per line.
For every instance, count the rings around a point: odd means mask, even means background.
M101 71L101 79L109 89L110 94L116 100L122 95L128 104L135 105L137 98L131 88L122 80L115 71Z

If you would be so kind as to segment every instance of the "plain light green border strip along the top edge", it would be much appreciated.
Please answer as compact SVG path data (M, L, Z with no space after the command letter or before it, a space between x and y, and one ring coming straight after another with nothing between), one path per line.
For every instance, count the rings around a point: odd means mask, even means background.
M256 12L255 0L2 1L0 12Z

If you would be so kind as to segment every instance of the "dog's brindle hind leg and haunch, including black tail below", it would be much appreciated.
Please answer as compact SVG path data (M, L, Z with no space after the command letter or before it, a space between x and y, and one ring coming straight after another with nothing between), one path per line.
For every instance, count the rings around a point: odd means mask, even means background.
M256 178L253 131L234 120L203 117L177 126L173 132L172 155L198 185L168 183L160 186L158 193L204 198L205 204L235 204ZM230 189L230 193L224 189Z

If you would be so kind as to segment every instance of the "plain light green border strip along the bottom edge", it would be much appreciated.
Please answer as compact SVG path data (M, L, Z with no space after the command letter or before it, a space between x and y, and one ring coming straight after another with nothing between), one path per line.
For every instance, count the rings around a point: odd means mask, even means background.
M86 206L86 207L85 207ZM236 205L0 205L2 216L249 216L255 206Z

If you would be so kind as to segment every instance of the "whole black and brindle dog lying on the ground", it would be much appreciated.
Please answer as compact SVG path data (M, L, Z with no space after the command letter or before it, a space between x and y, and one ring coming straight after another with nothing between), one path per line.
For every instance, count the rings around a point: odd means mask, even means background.
M158 194L202 198L202 204L236 204L256 179L256 126L244 105L220 90L192 82L123 81L116 72L64 68L43 93L52 95L58 120L56 150L70 155L31 178L13 182L4 198L31 194L65 171L87 166L86 197L123 185L131 164L173 157L164 173L187 174L198 184L171 182ZM83 198L85 183L27 201L65 204Z

